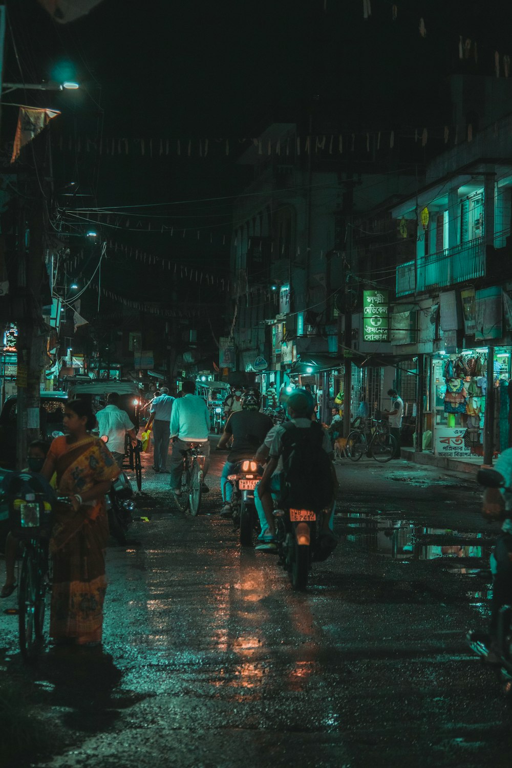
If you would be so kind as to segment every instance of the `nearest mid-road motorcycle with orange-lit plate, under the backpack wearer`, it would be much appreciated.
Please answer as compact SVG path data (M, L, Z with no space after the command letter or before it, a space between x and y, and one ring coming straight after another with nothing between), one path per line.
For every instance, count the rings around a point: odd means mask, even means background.
M293 589L306 590L313 561L335 549L335 536L325 529L330 515L329 509L274 509L278 561L289 571Z

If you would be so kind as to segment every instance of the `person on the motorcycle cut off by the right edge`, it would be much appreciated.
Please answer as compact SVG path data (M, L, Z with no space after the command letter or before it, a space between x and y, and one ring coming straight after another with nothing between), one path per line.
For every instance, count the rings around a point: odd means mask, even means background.
M470 641L481 640L493 651L497 641L500 608L512 605L512 448L500 454L493 467L504 477L506 488L485 488L483 512L488 520L501 522L501 534L498 536L491 554L491 573L493 576L493 597L491 602L491 623L489 633L473 631L468 634ZM494 654L493 654L494 655ZM491 654L487 660L492 661Z

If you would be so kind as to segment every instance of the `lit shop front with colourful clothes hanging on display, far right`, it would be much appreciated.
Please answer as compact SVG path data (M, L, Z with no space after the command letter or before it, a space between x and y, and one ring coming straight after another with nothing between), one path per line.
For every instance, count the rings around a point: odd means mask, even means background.
M431 432L425 447L434 455L482 463L486 429L493 453L510 445L510 352L495 347L489 356L487 347L479 347L432 356L424 427ZM487 402L490 383L494 397Z

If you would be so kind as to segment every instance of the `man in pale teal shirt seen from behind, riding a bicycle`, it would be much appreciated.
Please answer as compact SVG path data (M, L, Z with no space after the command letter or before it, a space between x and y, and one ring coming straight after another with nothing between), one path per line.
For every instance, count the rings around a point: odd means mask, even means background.
M203 479L210 466L210 411L202 397L195 394L196 385L192 381L183 382L183 397L175 400L170 416L170 434L177 438L173 442L173 455L170 459L170 489L177 496L181 493L181 470L183 455L191 442L200 442L204 455ZM203 492L210 490L203 482Z

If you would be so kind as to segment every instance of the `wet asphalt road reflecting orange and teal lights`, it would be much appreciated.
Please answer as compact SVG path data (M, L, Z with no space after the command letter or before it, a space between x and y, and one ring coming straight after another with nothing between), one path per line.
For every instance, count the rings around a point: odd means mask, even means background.
M107 552L103 657L25 670L0 617L2 667L57 729L32 764L510 766L512 710L464 643L487 621L496 533L471 476L340 463L340 544L297 594L213 514L224 456L198 518L145 471L140 545Z

